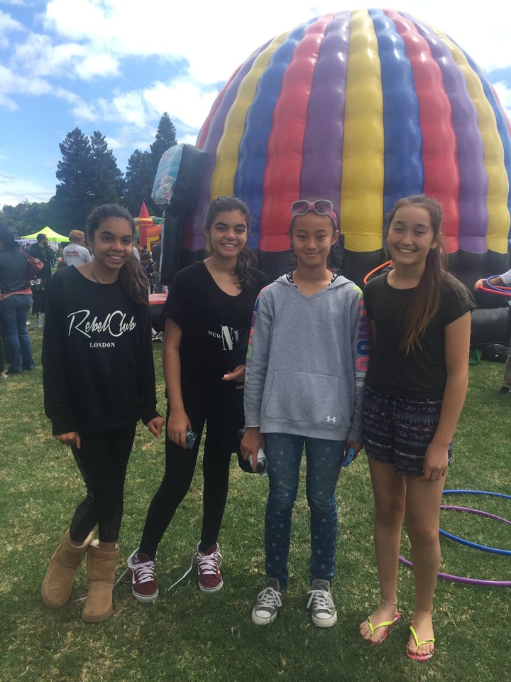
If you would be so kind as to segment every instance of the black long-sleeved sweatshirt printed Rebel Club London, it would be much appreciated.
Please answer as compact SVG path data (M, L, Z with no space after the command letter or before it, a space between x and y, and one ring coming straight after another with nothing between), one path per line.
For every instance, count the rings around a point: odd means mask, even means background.
M89 281L75 266L51 279L42 360L53 435L158 416L149 306L134 303L119 281Z

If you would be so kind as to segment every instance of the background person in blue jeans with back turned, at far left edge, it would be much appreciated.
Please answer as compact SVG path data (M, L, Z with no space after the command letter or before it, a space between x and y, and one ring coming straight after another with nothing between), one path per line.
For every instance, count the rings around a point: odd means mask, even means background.
M0 321L9 358L7 374L35 368L27 332L28 312L33 303L28 283L28 259L8 227L0 224ZM5 372L5 367L2 368Z

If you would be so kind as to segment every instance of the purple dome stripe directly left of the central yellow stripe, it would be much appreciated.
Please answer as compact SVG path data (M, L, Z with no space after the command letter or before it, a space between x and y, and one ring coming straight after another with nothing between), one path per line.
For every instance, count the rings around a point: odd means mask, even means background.
M300 196L329 198L337 215L341 199L350 17L348 11L336 13L326 27L319 48L307 109L300 177Z

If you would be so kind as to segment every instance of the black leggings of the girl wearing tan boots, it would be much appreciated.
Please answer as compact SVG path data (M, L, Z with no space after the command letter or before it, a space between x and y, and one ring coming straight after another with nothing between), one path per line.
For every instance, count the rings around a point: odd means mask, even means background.
M82 543L95 526L101 542L119 539L123 515L124 480L133 447L136 424L114 431L82 435L75 461L87 486L87 497L72 518L70 536Z

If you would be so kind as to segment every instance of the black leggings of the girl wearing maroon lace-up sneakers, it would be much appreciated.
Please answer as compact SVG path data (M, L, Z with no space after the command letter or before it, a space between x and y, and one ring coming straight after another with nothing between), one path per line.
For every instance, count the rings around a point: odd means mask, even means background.
M240 404L243 405L242 391L238 391L234 398L236 403L241 401ZM192 422L192 431L197 433L192 450L185 450L172 443L165 433L165 475L149 505L140 543L141 553L150 559L155 558L158 544L192 483L204 423L207 423L207 433L202 460L204 492L199 551L206 551L216 543L229 489L231 453L236 450L236 423L233 421L231 408L232 402L230 399L226 400L225 394L193 402L185 401L185 411ZM168 416L167 407L167 420ZM229 429L226 426L226 417L231 423Z

